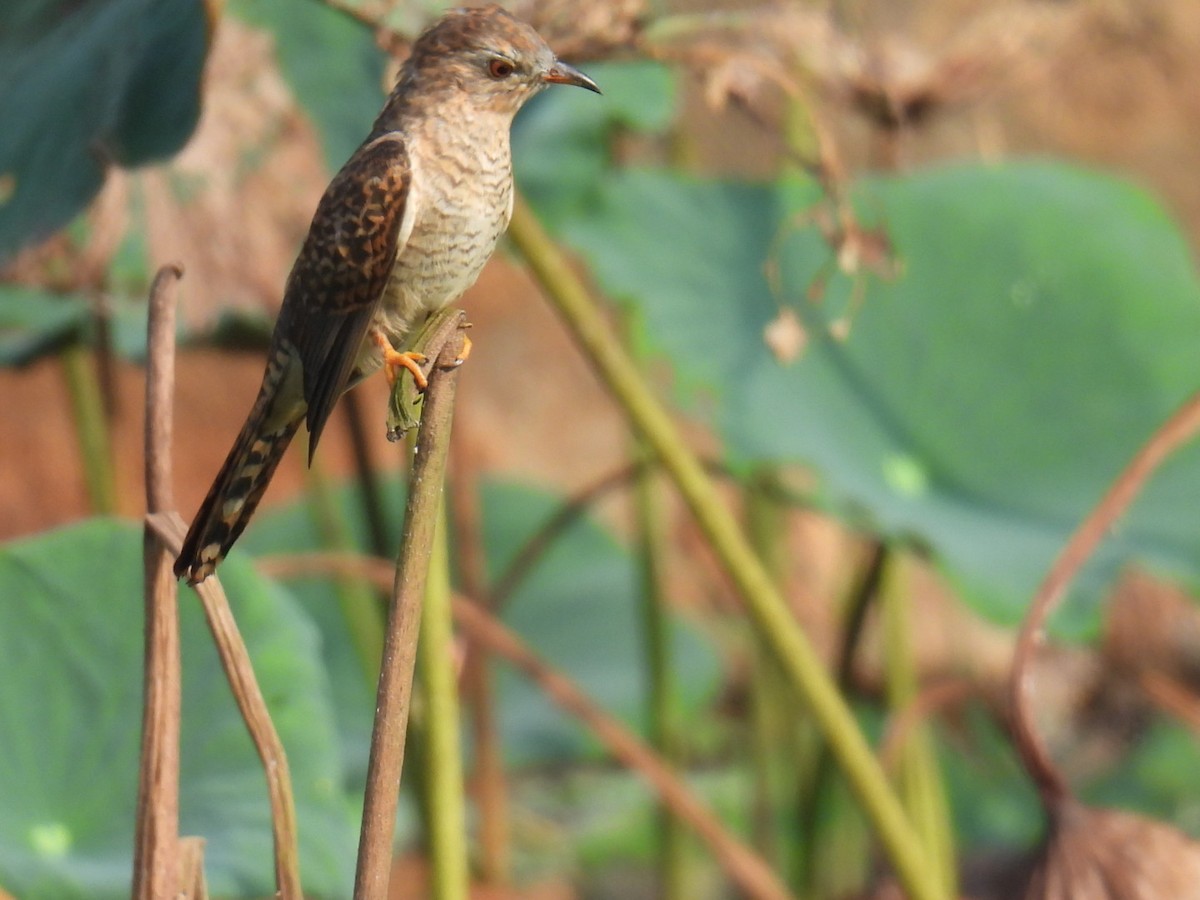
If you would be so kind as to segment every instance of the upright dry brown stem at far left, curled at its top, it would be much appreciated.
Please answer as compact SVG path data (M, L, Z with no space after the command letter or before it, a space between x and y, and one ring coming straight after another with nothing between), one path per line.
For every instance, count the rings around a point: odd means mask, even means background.
M146 510L174 506L172 497L172 404L175 391L175 282L182 266L158 270L150 288L145 395ZM133 839L136 900L174 896L180 889L179 584L174 557L145 527L142 536L145 599L142 684L142 760Z

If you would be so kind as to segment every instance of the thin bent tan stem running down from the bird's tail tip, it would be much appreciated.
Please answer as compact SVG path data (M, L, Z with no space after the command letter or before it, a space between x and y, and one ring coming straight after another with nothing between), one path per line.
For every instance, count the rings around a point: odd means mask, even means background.
M167 546L172 559L179 556L184 546L184 535L187 533L187 523L178 512L151 512L146 516L146 524ZM271 722L263 692L254 678L250 653L229 608L229 599L221 586L221 578L211 575L194 587L221 658L221 667L229 679L234 701L246 722L246 731L250 732L266 775L271 832L275 840L275 884L278 896L282 900L301 900L295 803L283 743Z

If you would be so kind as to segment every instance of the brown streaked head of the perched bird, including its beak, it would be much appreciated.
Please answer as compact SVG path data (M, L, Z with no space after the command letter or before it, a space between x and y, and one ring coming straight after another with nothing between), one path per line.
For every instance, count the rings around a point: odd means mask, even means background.
M452 10L413 43L401 76L430 94L461 91L481 109L515 115L551 84L600 92L595 82L560 62L529 25L499 6Z

